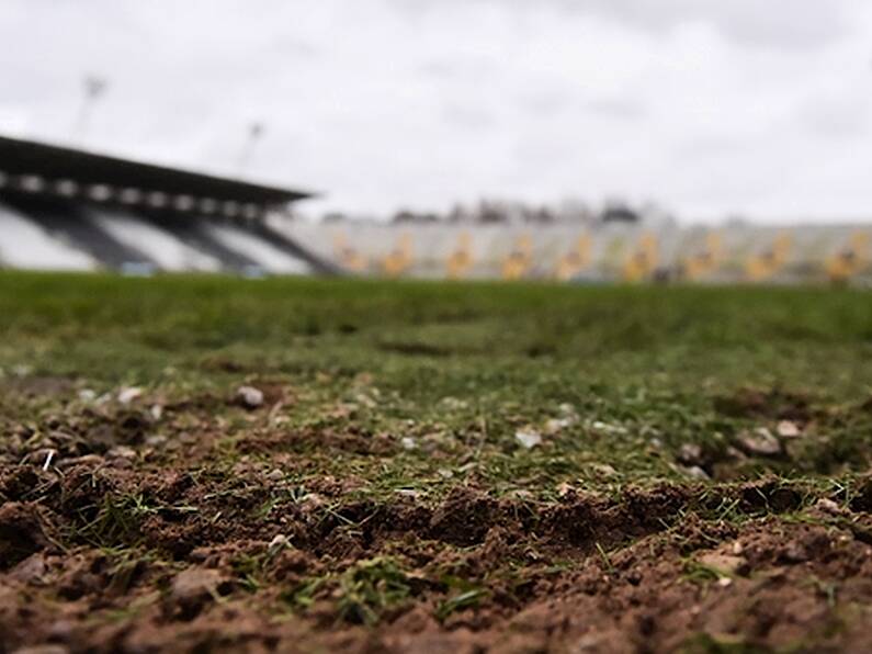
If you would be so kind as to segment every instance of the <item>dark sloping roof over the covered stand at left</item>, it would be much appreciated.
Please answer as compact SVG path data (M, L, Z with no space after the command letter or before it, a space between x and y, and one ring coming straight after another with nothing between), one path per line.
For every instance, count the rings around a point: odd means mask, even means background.
M0 136L0 173L7 180L35 179L37 183L44 180L52 184L98 185L259 206L282 205L312 196L312 193L303 191L5 136Z

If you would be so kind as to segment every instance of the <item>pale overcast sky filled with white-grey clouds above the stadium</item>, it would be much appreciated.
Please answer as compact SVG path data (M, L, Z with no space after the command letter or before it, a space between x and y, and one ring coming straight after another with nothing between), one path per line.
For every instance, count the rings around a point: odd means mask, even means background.
M0 132L236 174L261 121L246 174L312 213L872 216L869 0L0 2Z

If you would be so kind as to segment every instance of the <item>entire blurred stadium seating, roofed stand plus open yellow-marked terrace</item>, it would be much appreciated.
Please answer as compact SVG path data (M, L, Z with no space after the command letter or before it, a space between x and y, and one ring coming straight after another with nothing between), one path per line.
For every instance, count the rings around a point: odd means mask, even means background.
M872 283L869 225L682 227L483 203L392 223L287 219L309 194L0 137L0 266L566 282ZM578 213L578 212L576 212Z

